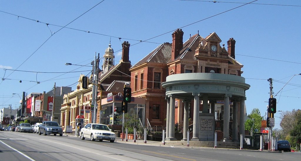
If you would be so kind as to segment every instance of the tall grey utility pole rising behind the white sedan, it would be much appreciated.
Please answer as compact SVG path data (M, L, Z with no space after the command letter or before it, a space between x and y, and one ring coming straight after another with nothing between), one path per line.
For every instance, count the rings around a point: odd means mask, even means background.
M92 103L91 105L94 106L92 122L96 123L96 114L97 114L97 95L98 95L98 65L99 65L99 54L98 57L94 57L93 62L93 88L92 88Z

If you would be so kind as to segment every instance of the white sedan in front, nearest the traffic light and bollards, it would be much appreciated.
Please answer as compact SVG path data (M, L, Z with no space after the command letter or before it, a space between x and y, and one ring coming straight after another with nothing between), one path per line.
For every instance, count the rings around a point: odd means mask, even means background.
M108 140L113 143L116 139L116 136L115 133L112 132L112 129L110 129L107 125L88 123L80 130L80 138L82 140L85 140L85 138L90 138L91 141Z

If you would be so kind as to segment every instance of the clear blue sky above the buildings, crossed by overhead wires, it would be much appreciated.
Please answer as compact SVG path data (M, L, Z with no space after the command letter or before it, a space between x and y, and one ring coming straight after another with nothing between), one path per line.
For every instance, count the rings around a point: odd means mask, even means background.
M19 106L19 96L12 93L48 92L54 82L57 86L71 85L74 90L79 75L87 75L91 67L65 63L90 64L95 52L104 55L110 39L115 64L121 59L121 43L129 41L134 65L159 44L172 42L170 31L177 28L184 31L184 42L198 31L203 37L216 32L222 39L220 45L227 44L229 38L236 40L236 60L244 65L242 76L251 85L246 91L247 113L259 108L265 115L268 78L274 79L275 94L284 87L275 97L277 110L300 108L301 76L294 75L301 73L301 1L258 0L247 5L243 3L252 1L104 0L97 5L99 2L0 1L0 68L11 69L0 69L0 77L5 78L0 80L0 108ZM68 28L59 27L65 25ZM12 71L16 69L34 72ZM71 71L82 72L35 73ZM277 117L281 117L279 112L275 114L275 128L280 123Z

